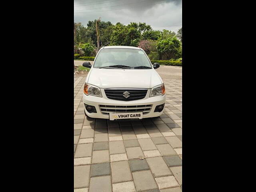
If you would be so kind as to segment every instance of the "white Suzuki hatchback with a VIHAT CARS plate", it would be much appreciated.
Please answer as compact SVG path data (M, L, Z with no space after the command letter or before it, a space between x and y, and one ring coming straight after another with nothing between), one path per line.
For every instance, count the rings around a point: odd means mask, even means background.
M166 100L164 82L142 48L105 46L94 59L84 84L84 112L91 118L158 117Z

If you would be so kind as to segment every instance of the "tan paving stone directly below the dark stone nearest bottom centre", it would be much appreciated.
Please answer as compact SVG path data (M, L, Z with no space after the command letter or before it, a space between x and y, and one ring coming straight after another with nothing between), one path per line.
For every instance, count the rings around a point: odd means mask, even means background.
M150 170L133 172L132 176L137 191L158 189Z

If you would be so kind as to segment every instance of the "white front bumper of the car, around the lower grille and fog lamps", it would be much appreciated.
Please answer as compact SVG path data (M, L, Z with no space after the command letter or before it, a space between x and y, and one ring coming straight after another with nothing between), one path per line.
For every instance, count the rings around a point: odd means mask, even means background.
M95 108L96 108L96 111L97 111L96 113L89 113L84 106L84 111L86 112L86 115L91 118L109 119L109 114L107 114L104 111L102 112L102 109L100 108L101 105L106 105L106 106L152 105L150 112L145 112L143 114L143 118L158 117L164 111L164 110L162 110L161 112L154 112L156 106L165 103L166 95L149 97L149 91L148 91L148 94L146 95L146 97L144 99L134 100L134 101L120 101L120 100L108 99L106 97L104 89L101 89L101 92L102 92L102 97L96 97L96 96L91 96L91 95L87 96L87 95L83 94L84 104L92 105L92 106L95 106Z

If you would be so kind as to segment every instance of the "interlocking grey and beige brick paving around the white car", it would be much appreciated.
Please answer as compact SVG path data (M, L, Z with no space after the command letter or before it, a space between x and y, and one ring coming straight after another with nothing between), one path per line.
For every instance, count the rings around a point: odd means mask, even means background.
M74 192L181 192L182 80L163 78L164 113L136 121L86 118L85 80L74 77Z

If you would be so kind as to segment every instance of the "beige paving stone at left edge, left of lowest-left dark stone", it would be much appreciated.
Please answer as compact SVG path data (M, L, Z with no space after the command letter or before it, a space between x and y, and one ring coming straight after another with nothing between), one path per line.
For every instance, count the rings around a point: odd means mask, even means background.
M88 187L90 180L90 165L74 166L74 188Z

